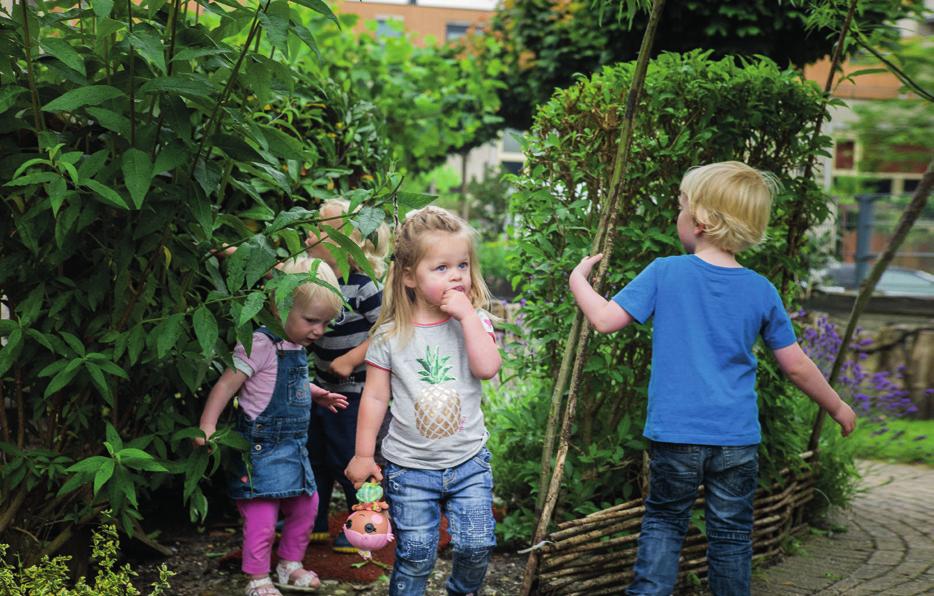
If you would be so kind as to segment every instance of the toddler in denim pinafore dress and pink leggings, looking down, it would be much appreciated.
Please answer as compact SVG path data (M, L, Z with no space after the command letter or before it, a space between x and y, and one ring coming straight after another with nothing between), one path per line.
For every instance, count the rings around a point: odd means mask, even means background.
M310 273L316 261L286 263L285 273ZM337 286L331 268L317 261L317 279ZM278 337L265 327L253 334L252 347L234 349L235 368L227 369L208 396L200 428L205 437L216 430L221 411L239 393L237 430L250 444L249 469L238 458L228 490L243 516L242 570L249 576L247 596L281 596L269 577L276 520L285 517L279 542L277 584L293 591L313 591L320 584L302 560L315 519L318 495L306 442L312 398L331 408L346 399L311 385L305 348L314 343L337 314L341 298L323 285L304 283L292 295L293 305ZM196 443L204 444L204 440Z

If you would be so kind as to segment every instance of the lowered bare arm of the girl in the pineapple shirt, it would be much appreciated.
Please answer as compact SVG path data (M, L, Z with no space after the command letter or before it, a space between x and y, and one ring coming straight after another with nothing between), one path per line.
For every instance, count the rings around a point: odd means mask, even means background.
M353 459L347 464L344 475L359 487L373 476L377 482L383 479L382 471L373 459L376 454L376 434L389 407L389 371L378 366L367 365L366 384L360 397L360 412L357 414L357 439Z

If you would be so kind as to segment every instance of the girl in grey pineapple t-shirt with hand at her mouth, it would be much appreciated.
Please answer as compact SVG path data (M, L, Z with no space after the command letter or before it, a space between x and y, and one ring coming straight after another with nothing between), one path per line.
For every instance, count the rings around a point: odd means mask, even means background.
M489 292L473 231L437 207L399 227L383 309L367 350L356 453L345 471L355 485L382 480L396 535L390 595L420 595L434 567L441 508L453 566L449 594L477 594L496 546L493 474L480 410L480 380L499 371L493 326L480 310ZM383 439L385 470L373 461L376 433L392 397Z

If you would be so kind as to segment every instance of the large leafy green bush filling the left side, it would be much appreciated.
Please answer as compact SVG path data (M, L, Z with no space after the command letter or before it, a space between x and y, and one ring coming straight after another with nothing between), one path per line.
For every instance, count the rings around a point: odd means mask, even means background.
M325 225L346 262L353 229L430 200L397 192L392 134L438 124L409 105L438 82L464 100L448 126L495 109L469 96L491 93L462 60L336 21L317 0L0 9L0 540L27 561L105 508L139 532L141 502L173 482L203 519L220 450L193 450L192 425L233 344L281 328L265 306L285 312L302 276L275 263ZM467 139L426 140L405 167ZM365 206L318 222L337 194ZM219 262L225 243L239 249Z

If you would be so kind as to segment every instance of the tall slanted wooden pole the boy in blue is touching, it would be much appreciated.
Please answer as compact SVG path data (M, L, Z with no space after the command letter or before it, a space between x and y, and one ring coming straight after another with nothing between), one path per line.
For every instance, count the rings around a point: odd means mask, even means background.
M602 248L600 252L604 253L604 259L601 261L597 269L597 274L594 277L594 289L597 291L600 291L602 288L603 278L613 251L613 238L616 232L616 219L619 211L618 205L623 194L622 187L625 183L625 174L629 167L629 152L632 148L632 139L634 136L635 115L639 105L639 97L642 94L642 87L645 83L645 75L648 71L649 56L655 39L655 32L658 29L658 23L661 20L662 8L664 6L665 0L653 0L649 23L642 37L642 45L639 48L639 59L636 62L632 84L630 85L629 94L626 98L625 114L620 125L619 142L617 144L616 157L613 162L613 174L608 187L606 209L601 218L600 225L598 226L597 238L595 240L595 242L600 242L597 248ZM541 541L548 530L548 525L551 523L551 516L558 499L561 478L564 475L564 460L567 457L568 442L571 435L571 421L574 419L577 388L580 386L580 375L583 370L583 361L587 351L587 340L590 331L589 325L583 322L583 314L579 310L575 316L575 320L581 321L580 337L576 345L569 342L565 347L565 358L567 358L568 353L576 352L576 356L574 358L574 366L571 372L570 386L568 388L567 405L565 406L564 417L561 423L561 435L559 437L555 466L552 472L551 482L548 486L548 493L545 496L542 506L541 516L539 517L538 525L532 537L533 550L529 553L529 559L525 568L525 577L522 581L521 594L523 594L523 596L528 596L532 592L539 559L536 545Z

